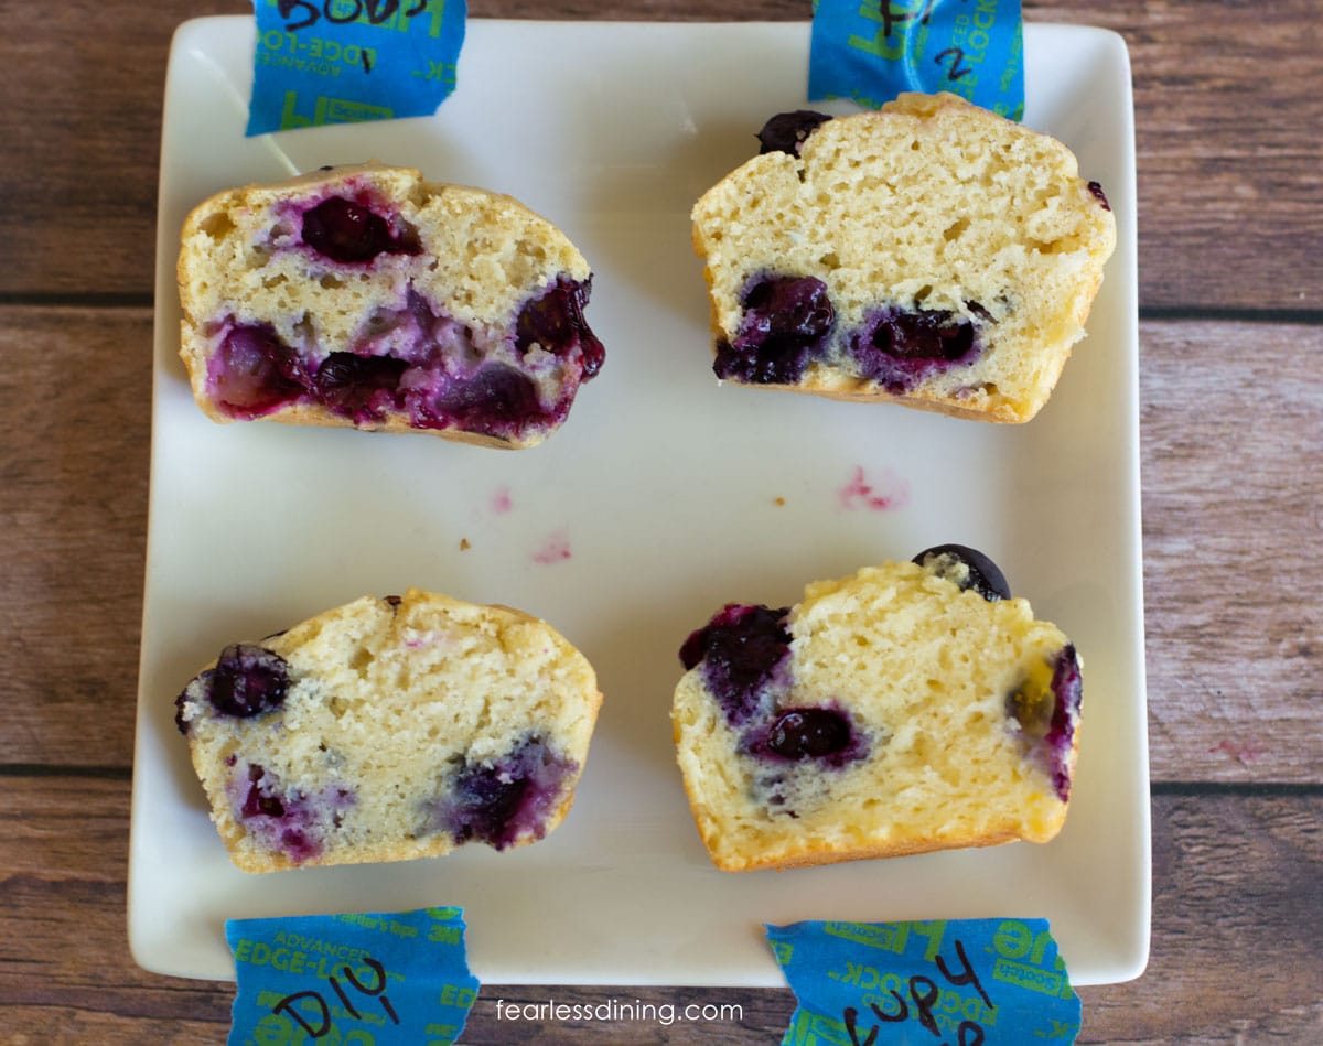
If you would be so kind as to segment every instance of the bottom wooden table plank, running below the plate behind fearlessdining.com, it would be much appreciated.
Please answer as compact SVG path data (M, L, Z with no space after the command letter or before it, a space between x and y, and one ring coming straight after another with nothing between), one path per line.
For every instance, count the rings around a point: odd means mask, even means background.
M0 800L0 1042L222 1042L233 985L157 977L128 955L128 782L9 776ZM1323 796L1159 795L1144 977L1084 988L1081 1043L1314 1043L1323 1037ZM40 942L40 947L33 947ZM1069 961L1069 956L1066 956ZM733 1005L738 1020L520 1022L496 1000ZM484 985L466 1043L769 1043L786 989ZM22 1037L28 1038L24 1039Z

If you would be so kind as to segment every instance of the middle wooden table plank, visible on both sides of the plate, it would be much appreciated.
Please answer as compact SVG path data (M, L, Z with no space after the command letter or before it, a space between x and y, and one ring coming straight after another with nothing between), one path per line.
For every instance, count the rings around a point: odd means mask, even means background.
M13 701L0 764L127 767L151 315L7 312L0 417L16 442L0 464L0 657ZM1323 327L1147 321L1140 341L1154 780L1318 782L1323 573L1302 570L1301 554L1318 546L1323 386L1291 374L1323 358ZM69 345L105 380L64 381ZM1265 397L1274 423L1242 424ZM54 651L52 690L37 655ZM79 714L90 705L103 709L95 746Z

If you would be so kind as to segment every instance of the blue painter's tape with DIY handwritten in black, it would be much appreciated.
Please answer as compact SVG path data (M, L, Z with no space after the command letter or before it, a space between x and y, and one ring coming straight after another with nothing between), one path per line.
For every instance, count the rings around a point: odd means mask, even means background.
M232 919L229 1046L372 1042L450 1046L479 983L460 908Z

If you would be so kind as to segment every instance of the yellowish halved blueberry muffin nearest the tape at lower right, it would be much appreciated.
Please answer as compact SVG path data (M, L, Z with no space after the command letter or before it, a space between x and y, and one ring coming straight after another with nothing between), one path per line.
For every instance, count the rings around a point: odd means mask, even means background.
M1065 821L1080 657L971 549L726 606L680 656L676 755L721 869L1046 842Z

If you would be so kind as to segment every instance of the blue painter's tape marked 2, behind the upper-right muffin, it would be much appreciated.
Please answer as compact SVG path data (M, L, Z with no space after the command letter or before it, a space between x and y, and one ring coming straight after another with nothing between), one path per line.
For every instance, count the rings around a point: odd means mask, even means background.
M808 99L878 108L901 91L950 91L1020 119L1020 1L816 0Z

